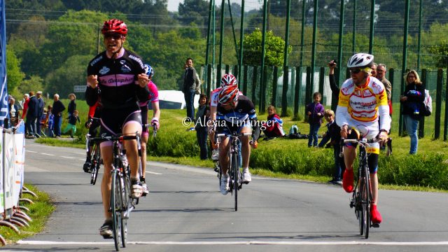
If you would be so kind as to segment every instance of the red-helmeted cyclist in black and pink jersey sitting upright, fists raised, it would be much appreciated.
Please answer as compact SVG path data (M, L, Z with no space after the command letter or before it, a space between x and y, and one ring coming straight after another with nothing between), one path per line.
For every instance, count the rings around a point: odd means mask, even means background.
M149 97L148 75L141 57L123 48L127 26L121 20L108 20L102 28L106 50L94 57L87 66L85 99L89 106L99 102L102 106L100 135L141 133L141 113L138 102ZM101 99L99 99L101 94ZM137 142L124 141L127 160L131 168L132 197L142 193L138 176L139 156ZM101 183L102 202L106 221L99 229L104 238L112 237L112 218L109 210L111 199L112 142L100 144L104 162Z

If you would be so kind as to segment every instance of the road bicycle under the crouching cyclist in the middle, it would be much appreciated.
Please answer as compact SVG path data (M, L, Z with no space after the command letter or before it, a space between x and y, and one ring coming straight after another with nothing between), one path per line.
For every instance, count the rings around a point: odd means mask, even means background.
M242 133L232 132L232 134L217 134L217 137L230 137L230 148L229 148L229 169L228 174L230 176L229 182L229 192L235 198L235 211L238 211L238 190L242 188L243 178L241 176L241 156L239 153L240 149L240 140L241 136L250 136L252 133ZM218 179L219 186L221 188L221 178L223 176L223 170L221 165L219 165Z

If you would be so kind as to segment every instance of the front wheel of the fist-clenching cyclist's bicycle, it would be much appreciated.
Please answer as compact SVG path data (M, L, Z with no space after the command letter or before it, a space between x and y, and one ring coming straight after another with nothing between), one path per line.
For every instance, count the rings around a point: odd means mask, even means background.
M111 211L112 211L112 230L113 230L113 243L115 244L116 251L120 251L120 235L121 235L121 190L120 190L120 175L117 170L112 174L112 187L111 187Z

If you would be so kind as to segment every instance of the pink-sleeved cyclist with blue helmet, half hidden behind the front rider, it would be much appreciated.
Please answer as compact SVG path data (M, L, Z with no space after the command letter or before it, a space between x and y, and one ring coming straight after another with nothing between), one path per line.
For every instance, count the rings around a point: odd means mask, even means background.
M146 143L148 143L149 129L148 125L148 104L151 102L153 107L153 119L151 119L151 125L155 127L155 130L159 130L160 123L160 109L159 109L159 91L157 86L151 80L154 76L153 68L145 64L145 72L148 75L148 90L149 90L149 100L146 102L140 102L141 110L141 123L142 123L142 133L141 133L141 174L140 182L141 188L143 190L142 195L145 196L149 193L148 186L146 184Z

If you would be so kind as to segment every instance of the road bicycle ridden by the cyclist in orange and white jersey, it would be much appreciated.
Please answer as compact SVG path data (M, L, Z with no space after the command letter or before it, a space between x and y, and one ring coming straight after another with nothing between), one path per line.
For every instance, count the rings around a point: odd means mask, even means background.
M370 204L372 204L372 185L370 183L369 165L367 162L366 148L369 144L379 142L379 139L363 139L360 135L360 139L341 139L341 157L344 152L344 144L358 144L358 180L356 181L353 194L350 199L350 208L355 209L356 218L359 223L359 234L364 235L365 239L369 238L369 229L379 228L379 224L372 223L370 220ZM388 138L388 141L391 141ZM391 150L391 145L387 145Z

